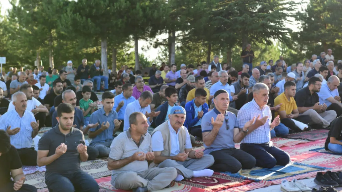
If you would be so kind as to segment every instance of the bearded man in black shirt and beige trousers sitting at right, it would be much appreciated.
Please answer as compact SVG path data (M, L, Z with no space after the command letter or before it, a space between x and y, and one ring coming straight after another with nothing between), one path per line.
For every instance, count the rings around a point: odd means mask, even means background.
M311 77L307 87L299 90L295 96L300 115L309 115L312 122L309 123L313 128L327 128L336 118L334 110L326 110L327 105L319 104L318 92L322 86L322 80L318 77Z

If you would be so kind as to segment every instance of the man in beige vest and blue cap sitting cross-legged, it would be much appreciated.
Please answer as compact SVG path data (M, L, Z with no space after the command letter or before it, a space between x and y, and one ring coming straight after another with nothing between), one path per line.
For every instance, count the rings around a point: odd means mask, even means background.
M152 132L154 162L150 167L174 167L177 170L175 181L192 177L210 177L214 173L207 169L214 164L213 156L203 155L203 151L193 151L188 130L183 126L185 109L182 106L171 108L168 121L160 124Z

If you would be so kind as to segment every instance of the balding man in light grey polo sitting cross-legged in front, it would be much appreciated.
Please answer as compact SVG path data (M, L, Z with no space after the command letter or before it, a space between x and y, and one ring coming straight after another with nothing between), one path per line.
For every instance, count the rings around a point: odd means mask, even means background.
M130 128L120 133L110 145L108 169L112 170L111 184L115 188L134 192L157 191L167 187L176 178L173 167L148 168L154 160L151 135L144 114L129 116Z

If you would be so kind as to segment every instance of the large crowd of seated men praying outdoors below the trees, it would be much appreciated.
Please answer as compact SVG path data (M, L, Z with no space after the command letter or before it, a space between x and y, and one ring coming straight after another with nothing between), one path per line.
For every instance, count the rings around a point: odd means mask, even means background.
M250 45L241 58L239 72L218 56L196 68L153 64L148 85L140 70L124 65L104 76L99 60L89 67L83 59L77 69L68 61L59 73L3 71L0 187L37 191L24 184L22 165L38 165L46 166L50 191L95 192L80 162L108 157L115 188L156 191L214 171L287 165L289 154L271 138L311 129L330 129L325 148L342 153L342 61L331 49L290 66L280 56L253 68ZM103 92L101 105L93 90ZM40 138L42 127L52 129ZM196 139L204 151L193 150Z

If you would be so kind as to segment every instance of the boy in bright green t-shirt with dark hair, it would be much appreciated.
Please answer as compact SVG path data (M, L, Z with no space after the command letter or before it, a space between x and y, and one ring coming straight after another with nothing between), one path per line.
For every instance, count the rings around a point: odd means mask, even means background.
M83 98L80 100L80 108L83 112L84 117L84 127L89 124L89 118L92 113L94 113L94 108L96 103L90 99L91 89L88 86L82 88Z

